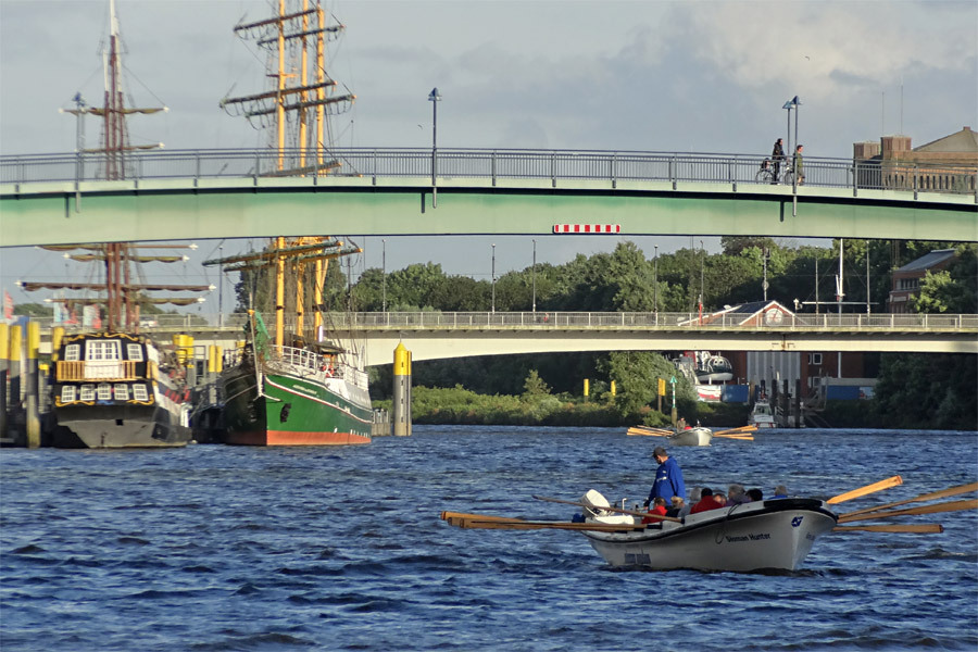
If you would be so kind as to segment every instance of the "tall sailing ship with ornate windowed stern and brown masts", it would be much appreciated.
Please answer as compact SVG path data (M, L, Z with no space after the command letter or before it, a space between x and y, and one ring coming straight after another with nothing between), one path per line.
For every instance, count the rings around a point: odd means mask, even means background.
M99 177L124 179L129 175L128 154L156 145L129 145L126 116L151 114L163 108L126 106L122 88L122 62L115 0L110 1L109 39L104 52L105 92L101 108L88 106L78 93L75 109L79 118L78 153L95 160ZM80 120L95 115L102 123L101 147L84 149ZM155 244L152 248L174 247ZM177 246L183 247L183 246ZM98 292L87 298L55 294L62 314L76 306L89 312L90 322L82 333L64 337L53 351L52 403L57 427L52 443L64 448L178 447L191 437L190 386L186 360L176 346L159 346L139 333L139 306L147 303L196 303L199 297L153 298L153 291L192 291L211 286L136 283L138 265L149 262L173 263L183 255L150 255L142 247L128 242L45 247L65 253L79 262L101 263L101 279L68 283L21 281L28 291L52 289ZM104 312L104 327L101 323ZM93 330L85 330L85 327Z

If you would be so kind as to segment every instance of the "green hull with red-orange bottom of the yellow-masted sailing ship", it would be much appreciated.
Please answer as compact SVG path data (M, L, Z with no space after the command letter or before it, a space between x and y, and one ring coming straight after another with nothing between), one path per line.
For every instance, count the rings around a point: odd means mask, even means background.
M259 393L255 374L249 366L225 373L225 443L344 446L371 442L373 411L369 399L364 396L366 400L358 400L342 379L318 381L288 374L265 374L261 383Z

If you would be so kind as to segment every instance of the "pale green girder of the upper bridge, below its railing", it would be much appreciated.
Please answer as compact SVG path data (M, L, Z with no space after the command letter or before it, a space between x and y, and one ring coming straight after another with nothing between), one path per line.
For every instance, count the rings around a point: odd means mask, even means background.
M0 189L4 247L301 235L542 236L556 224L639 235L978 241L974 198L728 184L170 179ZM436 205L437 204L437 208ZM556 237L556 236L555 236ZM566 236L564 236L566 237Z

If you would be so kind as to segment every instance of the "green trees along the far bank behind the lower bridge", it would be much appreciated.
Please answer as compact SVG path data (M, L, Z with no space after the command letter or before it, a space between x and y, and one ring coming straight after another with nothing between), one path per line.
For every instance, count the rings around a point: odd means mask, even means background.
M801 312L836 312L839 241L831 248L792 246L772 238L725 237L722 251L709 254L686 248L650 259L634 242L612 252L554 265L538 263L490 280L446 274L440 264L416 263L386 273L364 271L355 281L351 269L330 264L324 288L325 310L489 311L499 312L692 312L702 301L704 312L767 299ZM842 312L888 312L892 273L938 249L955 249L944 272L928 274L910 310L920 313L978 313L978 248L974 243L931 241L845 240L842 254ZM306 287L310 287L309 285ZM244 276L238 284L239 310L261 294L261 284ZM797 303L795 303L797 302ZM815 302L823 303L819 306ZM826 305L825 303L830 303ZM668 352L666 352L668 353ZM879 385L874 409L845 414L843 421L877 419L881 427L961 427L978 422L978 378L975 355L877 354ZM579 396L585 378L593 396L618 391L616 409L623 415L648 413L654 406L649 378L670 375L667 354L648 352L494 355L426 361L413 365L415 386L464 388L478 394L525 396L528 378L539 379L555 394ZM680 401L695 410L695 393L678 377ZM372 393L389 397L390 368L373 371ZM539 393L539 392L531 392Z

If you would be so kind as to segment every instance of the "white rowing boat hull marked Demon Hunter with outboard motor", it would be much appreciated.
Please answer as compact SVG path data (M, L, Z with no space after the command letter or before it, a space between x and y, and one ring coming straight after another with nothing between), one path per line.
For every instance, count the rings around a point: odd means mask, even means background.
M638 526L641 518L610 514L593 490L582 499L585 523ZM600 494L599 494L600 496ZM604 504L602 504L604 503ZM838 517L828 504L814 499L765 500L690 514L644 529L581 534L612 566L655 569L751 572L795 570L815 539L830 531ZM640 526L639 526L640 527Z

